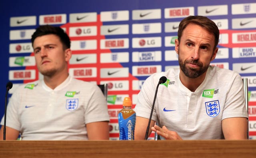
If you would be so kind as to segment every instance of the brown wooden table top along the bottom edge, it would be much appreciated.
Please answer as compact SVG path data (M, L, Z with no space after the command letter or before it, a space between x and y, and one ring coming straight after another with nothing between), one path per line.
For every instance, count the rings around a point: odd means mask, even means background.
M256 140L1 140L0 158L256 158Z

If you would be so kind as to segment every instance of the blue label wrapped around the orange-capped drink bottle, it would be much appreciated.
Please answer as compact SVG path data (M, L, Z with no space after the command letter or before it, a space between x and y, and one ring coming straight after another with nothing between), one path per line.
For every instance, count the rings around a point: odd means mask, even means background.
M127 119L123 118L122 113L118 114L119 140L134 140L134 127L136 121L136 113Z

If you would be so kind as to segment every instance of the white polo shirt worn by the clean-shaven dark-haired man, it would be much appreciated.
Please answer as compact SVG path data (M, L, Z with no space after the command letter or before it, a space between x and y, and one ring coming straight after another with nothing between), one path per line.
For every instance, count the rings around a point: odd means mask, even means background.
M54 90L44 81L20 86L6 115L6 126L19 130L22 140L87 140L85 124L98 121L109 121L102 91L70 76Z

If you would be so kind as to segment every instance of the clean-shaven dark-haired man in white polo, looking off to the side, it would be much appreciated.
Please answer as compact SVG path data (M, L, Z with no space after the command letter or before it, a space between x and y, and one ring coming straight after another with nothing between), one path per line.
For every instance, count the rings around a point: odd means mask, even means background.
M22 140L108 140L109 115L102 91L68 74L72 55L68 35L60 27L46 25L36 29L31 41L44 79L22 85L12 95L6 140L19 134Z

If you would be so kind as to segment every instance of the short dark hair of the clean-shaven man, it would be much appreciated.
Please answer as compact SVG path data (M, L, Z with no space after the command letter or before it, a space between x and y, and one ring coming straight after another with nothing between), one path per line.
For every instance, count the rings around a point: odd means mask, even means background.
M42 25L36 28L36 31L34 32L31 38L32 46L34 44L34 40L37 37L50 34L54 34L60 38L64 50L70 48L70 38L68 37L66 32L64 32L64 30L60 27L55 27L51 25Z

